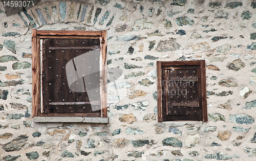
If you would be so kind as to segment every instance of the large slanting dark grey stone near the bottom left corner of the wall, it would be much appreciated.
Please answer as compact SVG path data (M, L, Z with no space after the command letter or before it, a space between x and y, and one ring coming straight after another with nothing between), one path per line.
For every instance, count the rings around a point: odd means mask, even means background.
M9 151L18 151L22 149L22 147L25 146L26 142L28 141L28 135L19 135L15 139L13 139L11 142L6 143L2 149L4 149L6 152Z

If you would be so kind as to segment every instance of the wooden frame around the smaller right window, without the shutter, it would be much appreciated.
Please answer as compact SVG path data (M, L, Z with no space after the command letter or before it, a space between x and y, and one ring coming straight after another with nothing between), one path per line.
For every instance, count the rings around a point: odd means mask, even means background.
M179 66L179 65L200 65L200 78L201 78L201 100L199 100L200 107L202 108L202 119L198 121L208 121L207 114L207 101L206 101L206 73L205 73L205 60L196 61L157 61L157 109L158 109L158 122L168 121L163 119L162 109L162 67L163 66ZM173 120L184 121L184 120ZM188 120L189 121L189 120ZM190 120L195 121L195 120Z

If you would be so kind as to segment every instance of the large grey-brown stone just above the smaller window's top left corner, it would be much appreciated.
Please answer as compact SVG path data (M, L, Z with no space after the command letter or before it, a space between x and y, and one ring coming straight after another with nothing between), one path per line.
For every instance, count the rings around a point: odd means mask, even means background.
M161 40L157 44L157 52L173 52L181 48L180 43L176 38L169 38L169 40Z

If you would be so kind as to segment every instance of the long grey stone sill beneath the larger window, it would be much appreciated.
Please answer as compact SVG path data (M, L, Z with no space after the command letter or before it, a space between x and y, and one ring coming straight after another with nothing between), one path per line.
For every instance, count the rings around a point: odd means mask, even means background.
M34 117L36 123L109 123L109 118L89 118L89 117Z

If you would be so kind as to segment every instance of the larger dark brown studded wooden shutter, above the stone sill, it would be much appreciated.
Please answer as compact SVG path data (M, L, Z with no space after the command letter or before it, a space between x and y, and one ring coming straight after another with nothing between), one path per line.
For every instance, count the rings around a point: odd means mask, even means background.
M69 89L66 73L66 64L69 61L74 62L74 58L99 49L99 39L43 39L42 40L42 109L41 113L91 113L92 117L100 117L99 110L92 110L90 101L98 105L100 109L100 91L94 93L93 98L89 100L86 89L84 92L74 92ZM84 60L83 70L94 68L100 71L100 55L92 54ZM90 63L89 63L90 62ZM92 64L89 66L88 64ZM78 66L73 66L76 70ZM75 71L74 70L74 71ZM76 75L73 73L72 75ZM100 86L100 73L87 77L92 86ZM83 82L84 82L83 78ZM85 86L85 84L84 84ZM46 115L47 116L47 115Z

